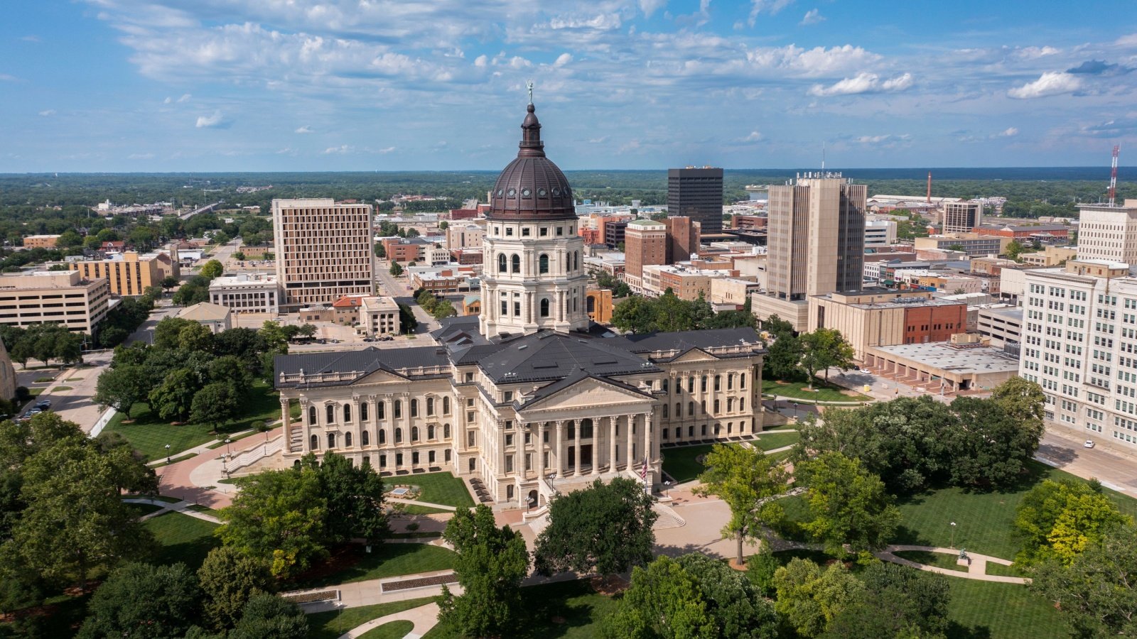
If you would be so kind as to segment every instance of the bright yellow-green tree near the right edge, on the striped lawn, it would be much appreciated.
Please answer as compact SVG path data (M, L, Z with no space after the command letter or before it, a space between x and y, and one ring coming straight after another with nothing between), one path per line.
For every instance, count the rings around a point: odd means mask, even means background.
M1064 565L1132 520L1122 515L1101 487L1067 479L1043 480L1019 503L1014 528L1023 540L1019 561L1055 559Z

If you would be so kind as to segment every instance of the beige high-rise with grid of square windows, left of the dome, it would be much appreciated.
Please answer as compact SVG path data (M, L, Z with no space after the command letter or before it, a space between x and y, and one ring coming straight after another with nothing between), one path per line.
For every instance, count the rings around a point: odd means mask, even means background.
M371 205L331 199L273 200L282 312L375 294Z

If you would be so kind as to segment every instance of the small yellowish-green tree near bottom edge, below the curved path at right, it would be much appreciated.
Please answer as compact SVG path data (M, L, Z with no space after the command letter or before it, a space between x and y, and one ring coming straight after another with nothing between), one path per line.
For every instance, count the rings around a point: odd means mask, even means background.
M808 559L794 558L774 573L774 611L797 636L819 637L861 595L864 584L840 562L822 571Z

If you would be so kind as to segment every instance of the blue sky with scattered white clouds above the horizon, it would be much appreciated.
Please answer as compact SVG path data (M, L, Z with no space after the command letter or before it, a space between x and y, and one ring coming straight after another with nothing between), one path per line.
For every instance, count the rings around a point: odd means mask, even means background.
M9 0L0 172L1107 166L1132 0Z

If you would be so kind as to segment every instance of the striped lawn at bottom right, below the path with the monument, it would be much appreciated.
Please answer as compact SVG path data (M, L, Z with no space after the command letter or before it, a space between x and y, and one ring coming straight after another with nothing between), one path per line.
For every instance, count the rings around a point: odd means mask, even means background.
M947 617L952 639L1068 638L1070 631L1059 612L1026 586L948 578L952 600Z

